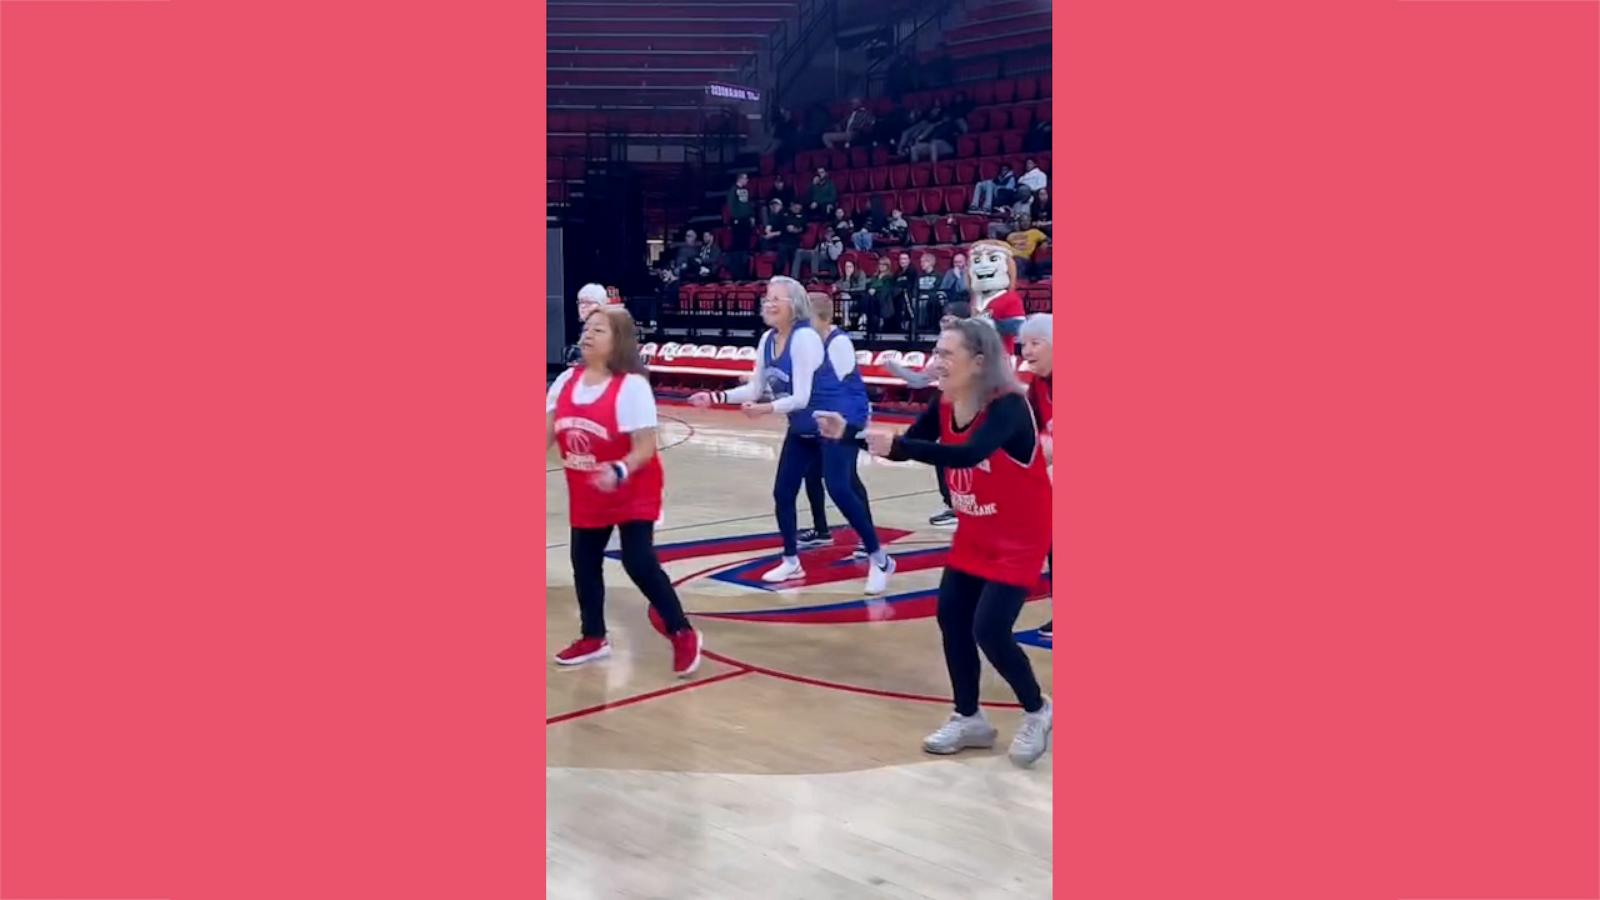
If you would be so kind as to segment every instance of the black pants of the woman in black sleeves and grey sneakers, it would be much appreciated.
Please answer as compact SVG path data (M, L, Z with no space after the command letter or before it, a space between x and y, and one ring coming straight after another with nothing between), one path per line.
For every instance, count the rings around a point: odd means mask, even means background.
M944 570L939 580L939 634L944 637L944 665L950 669L955 711L962 716L978 714L979 649L1016 692L1022 709L1037 713L1043 708L1034 666L1011 634L1024 602L1026 588L986 581L955 569Z

